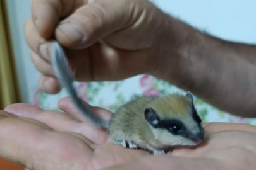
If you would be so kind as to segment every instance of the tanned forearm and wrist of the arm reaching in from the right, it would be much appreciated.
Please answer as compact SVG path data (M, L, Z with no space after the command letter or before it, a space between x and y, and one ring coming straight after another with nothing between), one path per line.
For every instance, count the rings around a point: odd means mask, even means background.
M221 110L256 116L256 46L210 37L172 18L169 23L155 76Z

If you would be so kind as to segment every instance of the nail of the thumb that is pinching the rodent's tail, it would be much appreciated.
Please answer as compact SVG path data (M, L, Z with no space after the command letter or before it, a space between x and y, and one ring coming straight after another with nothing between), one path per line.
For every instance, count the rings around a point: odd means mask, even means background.
M63 23L59 25L58 28L73 42L83 42L83 40L85 39L85 32L78 25L75 25L73 23Z

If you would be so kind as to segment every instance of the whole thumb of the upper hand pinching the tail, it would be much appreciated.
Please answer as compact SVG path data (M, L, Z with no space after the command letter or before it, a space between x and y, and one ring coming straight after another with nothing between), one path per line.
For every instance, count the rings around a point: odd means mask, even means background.
M57 40L68 48L86 48L128 26L131 1L99 0L82 6L56 29Z

